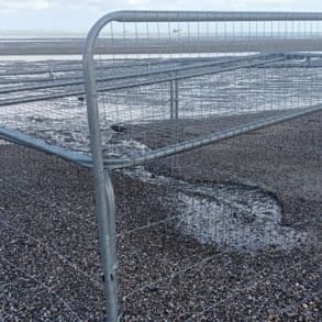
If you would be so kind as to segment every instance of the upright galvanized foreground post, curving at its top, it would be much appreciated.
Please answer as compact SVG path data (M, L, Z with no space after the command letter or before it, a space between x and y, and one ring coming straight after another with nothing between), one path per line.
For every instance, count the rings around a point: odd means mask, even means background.
M108 18L107 18L108 20ZM97 221L99 227L99 244L104 277L106 320L118 321L118 287L116 287L116 232L115 232L115 202L113 185L108 170L104 169L101 132L98 110L98 95L96 70L93 63L93 48L101 21L93 25L88 34L84 47L84 76L86 88L86 102L90 146L92 154L92 168L95 177Z

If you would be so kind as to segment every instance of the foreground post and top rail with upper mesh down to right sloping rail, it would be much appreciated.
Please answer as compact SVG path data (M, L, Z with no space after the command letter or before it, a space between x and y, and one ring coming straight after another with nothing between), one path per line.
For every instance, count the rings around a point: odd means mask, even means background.
M319 13L124 11L92 27L84 66L109 321L118 317L109 170L320 111L320 76L310 64L321 51L321 19ZM95 62L103 66L107 58L114 59L115 76L100 85ZM232 127L212 126L218 115L248 113L253 122L241 116ZM191 123L201 130L189 133ZM109 124L121 135L111 137L103 130ZM103 142L110 140L138 141L149 148L106 159Z

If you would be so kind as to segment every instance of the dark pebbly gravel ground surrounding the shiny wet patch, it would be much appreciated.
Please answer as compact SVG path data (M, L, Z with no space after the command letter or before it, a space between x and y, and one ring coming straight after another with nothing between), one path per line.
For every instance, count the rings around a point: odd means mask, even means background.
M321 120L186 153L175 171L168 159L148 165L171 176L166 185L113 173L122 321L321 320ZM103 320L90 170L16 145L0 154L0 320ZM308 238L288 248L200 243L171 220L174 178L256 187L280 204L279 224Z

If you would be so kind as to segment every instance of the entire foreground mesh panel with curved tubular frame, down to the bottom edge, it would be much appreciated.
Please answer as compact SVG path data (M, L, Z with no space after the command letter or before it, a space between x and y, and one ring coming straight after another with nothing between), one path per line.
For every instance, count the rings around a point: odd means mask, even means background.
M108 319L319 314L321 19L116 12L93 26L85 71ZM113 67L95 73L92 58Z

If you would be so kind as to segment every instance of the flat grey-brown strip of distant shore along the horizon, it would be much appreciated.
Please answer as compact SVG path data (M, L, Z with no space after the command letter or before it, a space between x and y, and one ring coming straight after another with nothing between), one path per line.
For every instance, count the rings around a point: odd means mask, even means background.
M80 55L86 37L0 38L3 55ZM180 37L168 38L100 38L97 54L193 54L193 53L288 53L321 52L317 38L281 37Z

